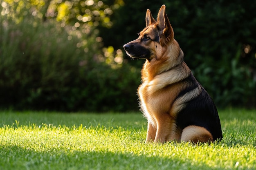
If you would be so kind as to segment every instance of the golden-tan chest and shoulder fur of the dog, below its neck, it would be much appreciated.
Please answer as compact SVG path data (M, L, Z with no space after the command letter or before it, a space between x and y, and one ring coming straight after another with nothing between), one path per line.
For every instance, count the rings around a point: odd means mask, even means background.
M145 64L142 69L143 82L138 88L140 108L144 116L153 125L156 124L157 119L161 119L163 114L175 118L177 110L179 110L175 105L175 100L180 91L188 86L182 80L191 74L190 69L182 62L182 64L154 77L149 77L150 74L147 71L148 65Z

